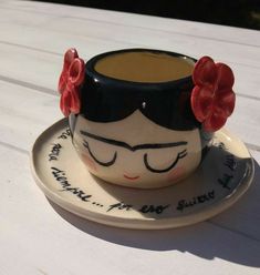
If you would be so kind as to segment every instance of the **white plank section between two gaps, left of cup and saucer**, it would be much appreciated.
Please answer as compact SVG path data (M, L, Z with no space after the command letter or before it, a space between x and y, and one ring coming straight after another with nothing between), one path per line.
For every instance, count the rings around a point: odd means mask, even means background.
M0 81L0 141L30 151L37 136L63 115L59 98Z

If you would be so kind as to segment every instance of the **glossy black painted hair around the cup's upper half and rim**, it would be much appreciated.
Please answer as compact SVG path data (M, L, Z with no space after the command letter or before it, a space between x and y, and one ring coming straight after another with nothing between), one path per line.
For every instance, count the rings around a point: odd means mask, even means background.
M81 114L94 122L119 121L139 110L150 121L171 130L201 128L193 114L190 93L193 79L186 77L175 81L144 83L118 80L95 70L98 60L123 52L148 51L154 54L188 58L179 53L128 49L106 52L94 57L85 64L85 80L81 88Z

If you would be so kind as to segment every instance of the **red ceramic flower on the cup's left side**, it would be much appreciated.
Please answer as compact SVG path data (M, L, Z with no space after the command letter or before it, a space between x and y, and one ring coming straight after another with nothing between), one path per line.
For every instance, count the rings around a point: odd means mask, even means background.
M67 50L58 88L61 93L60 108L65 116L80 112L80 85L84 81L84 61L79 58L75 49Z

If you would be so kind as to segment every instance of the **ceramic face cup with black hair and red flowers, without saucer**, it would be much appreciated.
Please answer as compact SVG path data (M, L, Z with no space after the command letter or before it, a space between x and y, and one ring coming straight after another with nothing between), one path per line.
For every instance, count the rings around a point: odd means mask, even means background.
M74 49L65 53L61 109L74 147L93 175L156 189L198 167L214 132L231 114L235 96L230 89L222 98L216 92L218 85L232 86L232 74L231 80L220 78L220 69L230 70L227 65L208 57L196 62L148 49L106 52L86 63Z

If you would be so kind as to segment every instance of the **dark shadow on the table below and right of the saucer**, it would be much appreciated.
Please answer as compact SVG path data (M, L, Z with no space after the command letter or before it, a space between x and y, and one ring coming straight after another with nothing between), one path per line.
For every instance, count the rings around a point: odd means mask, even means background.
M207 259L218 257L259 267L260 218L254 221L248 217L248 213L256 217L259 208L260 166L256 161L254 166L252 186L230 210L207 222L181 228L160 231L116 228L86 221L49 202L69 223L106 242L150 251L176 249ZM248 235L243 233L245 231L249 232Z

